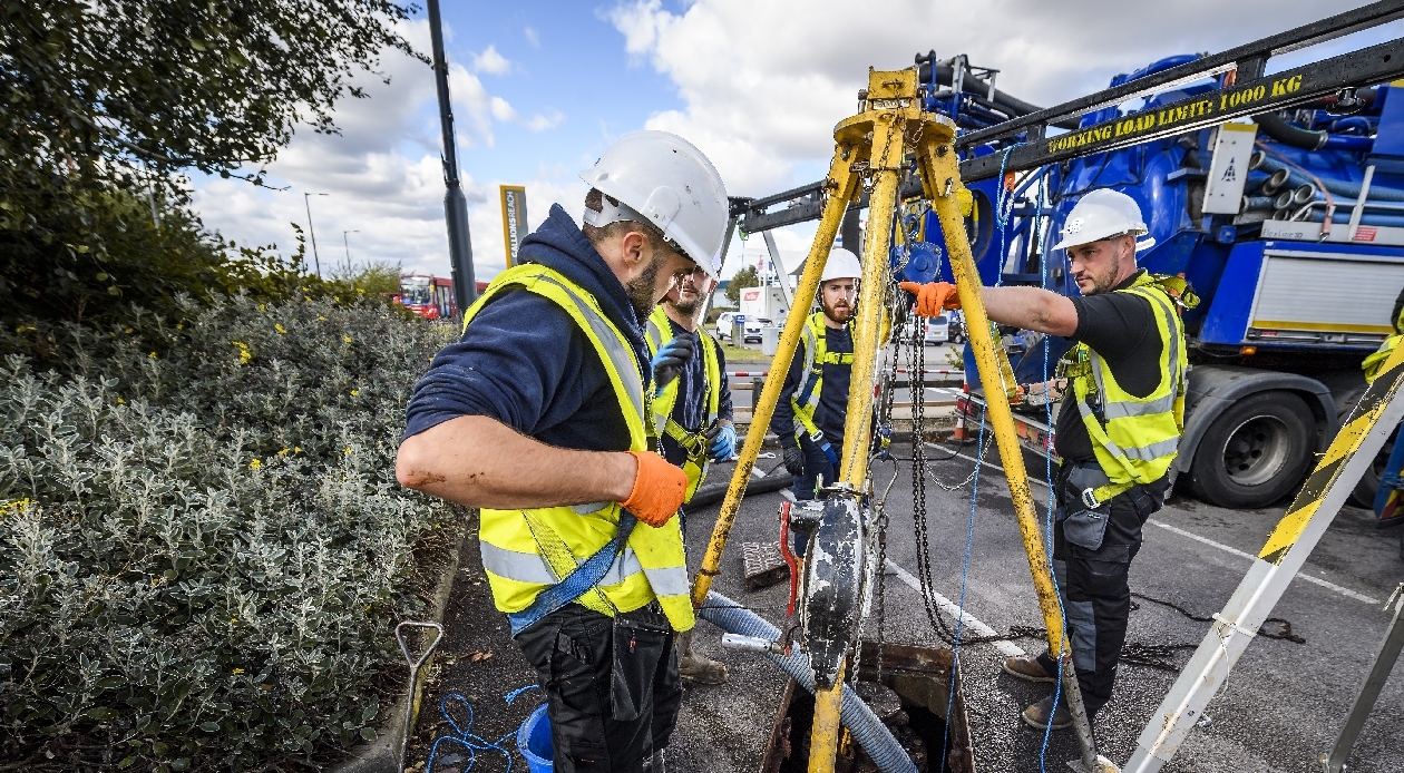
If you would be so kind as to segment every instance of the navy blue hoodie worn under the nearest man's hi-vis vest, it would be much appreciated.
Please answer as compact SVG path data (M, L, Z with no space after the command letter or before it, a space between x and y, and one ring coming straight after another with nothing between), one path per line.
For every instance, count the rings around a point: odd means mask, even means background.
M559 205L518 257L559 271L591 293L629 340L649 380L643 327L623 285ZM404 436L462 415L491 417L543 443L628 450L629 429L594 345L574 320L536 293L507 290L482 309L458 344L414 384Z

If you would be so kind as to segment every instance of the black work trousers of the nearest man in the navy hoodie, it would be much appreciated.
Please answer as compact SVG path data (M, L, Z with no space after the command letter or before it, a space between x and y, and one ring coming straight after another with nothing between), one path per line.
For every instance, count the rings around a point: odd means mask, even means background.
M556 773L639 773L668 745L682 703L673 637L657 603L618 623L571 603L517 634L546 692ZM637 717L615 718L621 706Z

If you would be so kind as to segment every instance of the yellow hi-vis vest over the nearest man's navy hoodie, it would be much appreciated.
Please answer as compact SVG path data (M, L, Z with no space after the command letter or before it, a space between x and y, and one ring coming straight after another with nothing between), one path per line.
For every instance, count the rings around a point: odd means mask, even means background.
M646 450L647 401L633 348L600 310L594 296L562 274L538 264L498 274L463 314L463 330L468 331L469 323L484 306L512 289L534 292L570 314L609 375L623 422L629 426L630 450ZM524 320L524 324L531 321ZM479 546L497 609L507 613L526 609L538 593L598 553L615 537L619 512L618 502L483 508ZM658 599L674 630L685 631L696 623L677 518L657 529L640 520L605 578L576 603L612 617L615 612L632 612L653 599Z

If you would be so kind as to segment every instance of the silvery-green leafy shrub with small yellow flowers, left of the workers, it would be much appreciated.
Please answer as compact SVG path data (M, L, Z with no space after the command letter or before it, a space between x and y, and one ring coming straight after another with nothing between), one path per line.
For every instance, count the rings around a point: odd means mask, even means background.
M393 477L441 331L371 302L181 303L62 328L63 375L0 368L0 759L324 760L400 676L411 550L455 527Z

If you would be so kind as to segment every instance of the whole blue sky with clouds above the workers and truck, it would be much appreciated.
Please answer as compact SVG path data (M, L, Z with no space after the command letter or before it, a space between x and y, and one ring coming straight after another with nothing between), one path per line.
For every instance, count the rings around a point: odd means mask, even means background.
M442 0L475 274L489 281L505 265L500 185L526 187L532 229L553 203L578 222L587 189L577 173L633 130L687 137L730 195L762 196L823 177L833 126L852 114L869 66L967 53L1000 69L1001 91L1050 105L1164 56L1223 51L1362 4ZM403 34L430 52L423 10ZM1401 35L1404 22L1393 22L1275 58L1269 72ZM296 250L292 223L306 230L310 209L323 272L350 260L448 276L434 76L393 51L380 72L389 84L357 74L369 97L337 104L340 135L302 128L268 164L268 185L285 189L194 178L192 206L206 227L286 255ZM786 260L812 237L813 226L775 233ZM722 276L762 253L758 237L734 240Z

